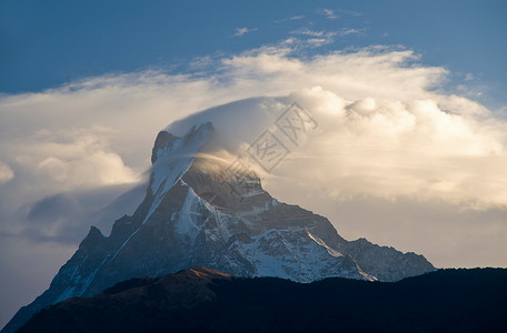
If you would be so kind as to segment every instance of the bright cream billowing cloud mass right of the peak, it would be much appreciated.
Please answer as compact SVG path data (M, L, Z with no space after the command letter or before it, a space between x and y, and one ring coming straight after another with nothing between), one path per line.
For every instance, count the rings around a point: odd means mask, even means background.
M464 100L439 103L439 97L348 101L321 87L292 97L321 129L305 151L280 165L281 174L304 186L319 183L337 199L409 196L506 208L506 123L480 108L465 113L457 108Z

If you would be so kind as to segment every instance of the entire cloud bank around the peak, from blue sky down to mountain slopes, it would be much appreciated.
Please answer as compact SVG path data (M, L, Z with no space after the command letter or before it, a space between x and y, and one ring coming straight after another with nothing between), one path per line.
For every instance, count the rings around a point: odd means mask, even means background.
M419 63L411 50L378 46L305 58L295 56L297 47L288 39L207 59L192 74L109 74L0 97L2 253L37 256L44 246L48 260L47 242L70 252L99 212L103 219L93 221L107 231L142 196L152 142L167 124L211 117L235 154L297 101L318 129L262 174L275 196L328 215L346 238L417 251L436 265L507 264L506 122L446 93L447 71ZM196 115L256 97L267 98ZM185 132L185 120L179 124L173 129ZM131 195L119 198L128 189ZM37 244L33 252L27 243ZM67 256L54 254L54 265ZM1 261L16 271L16 261Z

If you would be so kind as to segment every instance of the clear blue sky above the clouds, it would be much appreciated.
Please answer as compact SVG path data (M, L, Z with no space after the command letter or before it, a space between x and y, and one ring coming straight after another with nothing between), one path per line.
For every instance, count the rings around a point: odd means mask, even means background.
M334 10L329 18L324 10ZM284 20L304 17L298 20ZM232 37L238 28L257 29ZM311 49L402 44L451 71L493 107L507 98L507 1L1 1L0 92L41 91L110 72L179 71L290 31L356 29ZM469 78L471 78L469 75Z

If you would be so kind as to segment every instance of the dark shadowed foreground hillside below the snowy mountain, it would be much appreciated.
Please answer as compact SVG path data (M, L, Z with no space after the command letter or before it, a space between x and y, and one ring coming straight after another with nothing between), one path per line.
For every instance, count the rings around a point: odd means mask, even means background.
M235 279L196 268L121 282L34 315L19 332L507 332L507 270L396 283Z

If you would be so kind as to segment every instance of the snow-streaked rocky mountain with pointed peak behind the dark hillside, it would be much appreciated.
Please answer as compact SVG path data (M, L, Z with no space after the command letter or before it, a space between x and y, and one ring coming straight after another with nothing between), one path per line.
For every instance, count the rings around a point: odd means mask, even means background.
M105 236L91 226L50 287L22 307L2 332L41 309L92 296L136 276L207 266L235 276L311 282L329 276L397 281L434 271L422 256L342 239L324 216L281 203L252 172L207 158L210 122L185 135L162 131L152 150L146 198Z

